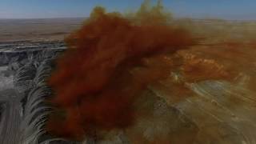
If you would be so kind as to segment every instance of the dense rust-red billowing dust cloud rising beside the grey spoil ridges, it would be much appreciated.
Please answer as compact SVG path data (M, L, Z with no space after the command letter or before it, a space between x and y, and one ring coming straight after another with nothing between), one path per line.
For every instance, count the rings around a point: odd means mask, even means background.
M133 125L134 99L170 75L168 55L195 44L188 31L168 24L160 2L148 3L128 16L95 7L66 38L69 48L49 81L57 107L47 124L52 134L81 140Z

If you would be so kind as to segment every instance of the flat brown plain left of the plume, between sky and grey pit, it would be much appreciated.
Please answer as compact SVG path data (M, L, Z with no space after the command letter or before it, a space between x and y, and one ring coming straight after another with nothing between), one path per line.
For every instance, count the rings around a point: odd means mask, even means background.
M62 40L84 18L0 19L0 42L17 40Z

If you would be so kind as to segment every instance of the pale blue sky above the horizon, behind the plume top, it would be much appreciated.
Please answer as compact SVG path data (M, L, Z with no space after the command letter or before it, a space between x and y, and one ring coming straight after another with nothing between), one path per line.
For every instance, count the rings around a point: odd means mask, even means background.
M143 0L0 0L0 18L87 17L94 6L135 10ZM154 2L154 0L153 0ZM163 0L177 17L256 20L256 0Z

